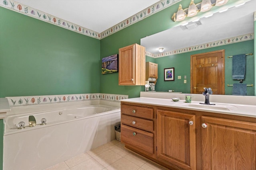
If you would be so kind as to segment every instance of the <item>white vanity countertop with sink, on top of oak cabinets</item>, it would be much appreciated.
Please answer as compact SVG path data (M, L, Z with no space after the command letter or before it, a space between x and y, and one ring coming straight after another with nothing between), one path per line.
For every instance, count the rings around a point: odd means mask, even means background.
M179 100L178 102L173 102L171 99L145 98L145 97L125 99L125 100L121 100L121 102L150 104L155 106L167 106L167 107L175 107L180 109L190 109L190 110L198 110L198 111L208 111L213 113L256 117L255 105L223 104L223 103L212 103L212 102L211 104L215 104L215 105L205 105L205 104L199 104L200 102L197 102L197 101L192 101L189 104L189 103L186 103L185 100Z

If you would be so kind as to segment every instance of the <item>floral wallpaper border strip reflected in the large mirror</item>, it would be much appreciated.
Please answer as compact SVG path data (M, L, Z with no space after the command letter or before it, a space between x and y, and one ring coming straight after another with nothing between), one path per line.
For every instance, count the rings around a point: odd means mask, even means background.
M169 55L187 53L187 52L190 52L190 51L196 51L196 50L207 49L207 48L217 47L217 46L226 45L226 44L248 41L248 40L251 40L251 39L254 39L254 33L240 35L240 36L237 36L237 37L232 37L232 38L227 38L227 39L222 39L222 40L214 41L214 42L210 42L210 43L204 43L204 44L201 44L201 45L194 45L194 46L191 46L191 47L177 49L177 50L174 50L174 51L166 51L166 52L160 53L160 54L153 54L153 53L150 53L150 52L146 51L146 56L152 57L152 58L160 58L160 57L166 57L166 56L169 56Z

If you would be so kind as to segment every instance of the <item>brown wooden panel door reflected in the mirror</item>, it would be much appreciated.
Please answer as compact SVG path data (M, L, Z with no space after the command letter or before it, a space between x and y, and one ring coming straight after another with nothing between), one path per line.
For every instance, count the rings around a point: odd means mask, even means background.
M202 94L204 87L213 94L225 94L225 50L191 55L190 92Z

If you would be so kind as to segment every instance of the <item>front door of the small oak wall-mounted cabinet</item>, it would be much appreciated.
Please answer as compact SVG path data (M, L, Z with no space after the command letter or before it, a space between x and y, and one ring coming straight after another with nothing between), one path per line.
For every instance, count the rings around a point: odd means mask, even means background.
M119 49L119 85L135 84L135 45Z

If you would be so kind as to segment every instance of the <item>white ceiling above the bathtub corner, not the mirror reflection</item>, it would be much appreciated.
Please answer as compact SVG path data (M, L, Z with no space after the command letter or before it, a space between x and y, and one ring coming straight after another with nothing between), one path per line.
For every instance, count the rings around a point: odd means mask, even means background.
M15 0L98 33L160 0Z

